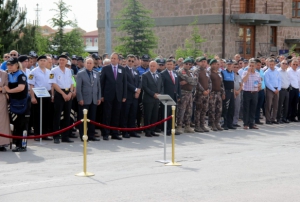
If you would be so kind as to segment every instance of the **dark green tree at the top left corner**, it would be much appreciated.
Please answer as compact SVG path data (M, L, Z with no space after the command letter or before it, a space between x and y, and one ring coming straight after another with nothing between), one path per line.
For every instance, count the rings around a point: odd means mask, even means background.
M17 0L0 0L0 54L11 50L25 24L26 11L20 10Z

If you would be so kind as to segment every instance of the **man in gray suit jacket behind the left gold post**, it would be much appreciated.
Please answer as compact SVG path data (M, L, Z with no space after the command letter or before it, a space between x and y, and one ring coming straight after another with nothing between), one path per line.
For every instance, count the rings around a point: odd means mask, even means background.
M101 85L99 73L93 71L94 61L88 58L85 69L79 71L76 78L76 92L78 100L78 120L83 118L83 109L88 110L88 119L95 121L97 106L101 104ZM82 141L83 127L79 125L79 134ZM90 141L100 141L95 138L95 126L88 123L88 137Z

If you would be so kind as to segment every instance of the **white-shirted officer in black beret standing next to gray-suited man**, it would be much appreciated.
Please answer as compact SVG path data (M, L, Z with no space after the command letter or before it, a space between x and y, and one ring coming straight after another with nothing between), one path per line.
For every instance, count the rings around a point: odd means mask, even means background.
M53 130L58 131L60 126L61 113L64 112L62 127L70 124L70 112L72 105L72 93L74 90L71 70L66 68L68 57L60 55L58 57L59 66L52 69L49 76L49 83L52 84L54 92L54 121ZM69 131L62 134L62 142L73 142L68 137ZM59 136L54 136L54 143L59 144Z

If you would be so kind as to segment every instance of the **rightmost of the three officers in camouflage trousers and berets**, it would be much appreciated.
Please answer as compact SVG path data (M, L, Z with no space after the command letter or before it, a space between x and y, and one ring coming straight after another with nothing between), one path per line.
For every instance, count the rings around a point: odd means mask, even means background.
M209 64L211 68L208 74L211 79L212 89L209 98L208 116L212 130L218 131L223 130L220 126L220 118L222 114L222 100L225 99L225 91L222 75L217 66L217 60L212 59Z

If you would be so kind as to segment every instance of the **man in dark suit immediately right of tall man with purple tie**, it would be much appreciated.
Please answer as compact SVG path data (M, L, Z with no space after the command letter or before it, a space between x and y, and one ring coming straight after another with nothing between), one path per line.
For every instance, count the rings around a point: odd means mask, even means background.
M127 76L127 98L122 103L121 126L124 128L135 128L135 119L138 109L138 98L141 93L141 82L139 74L133 69L135 62L134 55L128 55L126 59L125 72ZM122 132L123 138L140 136L136 132Z

